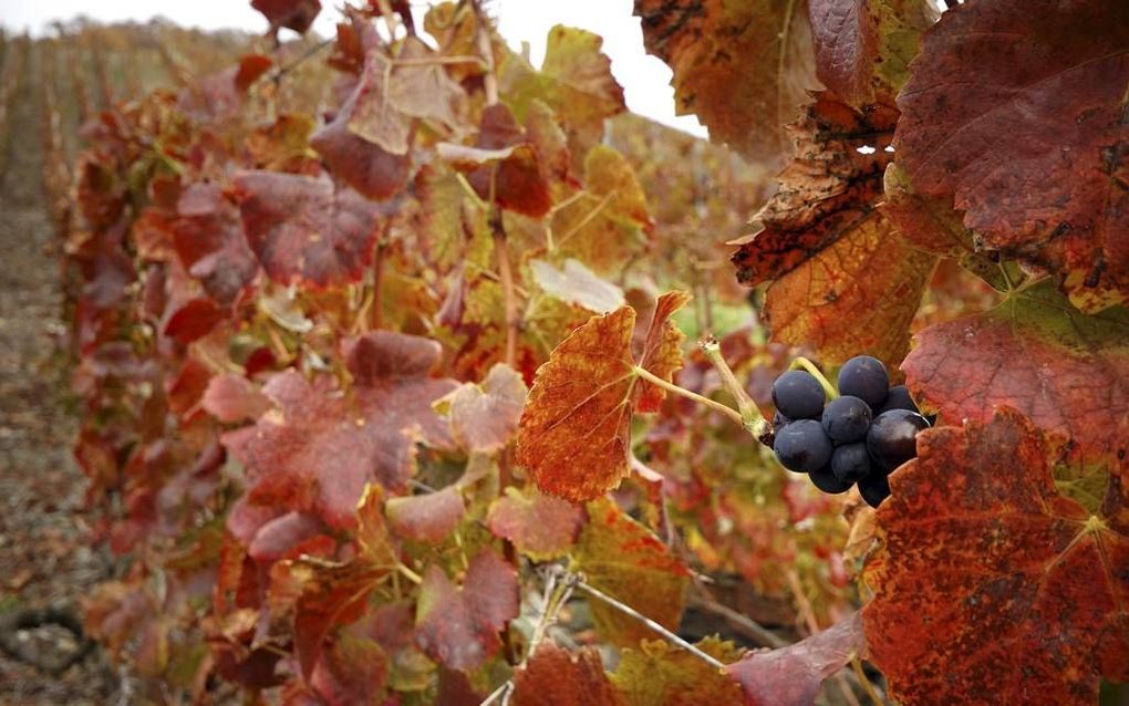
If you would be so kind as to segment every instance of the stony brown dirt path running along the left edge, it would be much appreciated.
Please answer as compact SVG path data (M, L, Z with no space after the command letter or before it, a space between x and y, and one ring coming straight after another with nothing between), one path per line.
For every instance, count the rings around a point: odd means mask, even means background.
M0 183L0 640L60 663L78 642L59 626L17 629L28 610L80 616L78 599L108 572L81 512L86 481L71 459L76 416L51 333L60 321L59 244L46 212L36 56L11 106ZM42 613L41 613L42 615ZM114 704L119 679L97 650L59 674L0 651L0 704Z

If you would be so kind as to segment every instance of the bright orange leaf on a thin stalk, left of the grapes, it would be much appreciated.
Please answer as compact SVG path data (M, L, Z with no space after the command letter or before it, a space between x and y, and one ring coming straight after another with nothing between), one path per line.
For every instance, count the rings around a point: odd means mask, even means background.
M669 331L669 315L689 299L671 291L658 299L650 332ZM517 462L537 488L574 502L599 497L630 471L628 462L632 409L660 399L640 393L631 355L636 313L629 306L593 316L576 329L537 369L522 412ZM672 333L648 334L641 360L669 380L681 356L669 348Z

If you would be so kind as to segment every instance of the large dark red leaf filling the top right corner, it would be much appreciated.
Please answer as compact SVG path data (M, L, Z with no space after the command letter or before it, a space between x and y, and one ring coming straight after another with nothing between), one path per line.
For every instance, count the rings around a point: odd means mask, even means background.
M1129 7L970 3L925 35L898 162L983 244L1049 269L1086 312L1129 302ZM1008 38L1003 38L1008 37ZM1007 136L1007 139L1000 139Z

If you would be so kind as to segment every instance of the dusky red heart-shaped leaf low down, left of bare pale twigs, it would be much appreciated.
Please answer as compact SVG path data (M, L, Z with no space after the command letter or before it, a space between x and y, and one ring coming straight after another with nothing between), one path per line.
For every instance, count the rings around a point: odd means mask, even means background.
M484 550L471 559L462 587L438 566L428 567L415 609L415 639L432 660L472 670L498 652L498 633L517 612L517 572Z

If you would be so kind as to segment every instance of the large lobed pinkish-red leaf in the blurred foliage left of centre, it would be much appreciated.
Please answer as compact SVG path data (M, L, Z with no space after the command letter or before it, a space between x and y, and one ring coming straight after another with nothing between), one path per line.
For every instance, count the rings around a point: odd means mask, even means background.
M378 331L348 342L355 407L326 376L307 381L290 369L272 377L263 393L278 410L224 436L247 468L251 502L314 512L347 528L366 483L403 491L417 439L453 446L431 409L455 386L428 377L440 355L435 341L402 333Z

